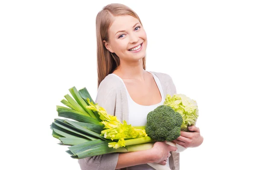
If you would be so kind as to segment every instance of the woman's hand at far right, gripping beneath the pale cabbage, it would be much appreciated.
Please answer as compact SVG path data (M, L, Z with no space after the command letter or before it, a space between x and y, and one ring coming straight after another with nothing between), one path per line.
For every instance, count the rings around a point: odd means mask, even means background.
M198 147L204 141L203 136L200 135L200 130L196 126L189 126L191 132L180 131L180 136L173 140L173 142L183 146L188 147Z

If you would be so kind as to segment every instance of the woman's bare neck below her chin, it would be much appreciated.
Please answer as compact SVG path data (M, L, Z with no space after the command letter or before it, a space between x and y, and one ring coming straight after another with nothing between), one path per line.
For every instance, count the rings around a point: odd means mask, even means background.
M143 61L125 62L120 60L120 65L116 69L116 73L122 79L144 79L145 70L143 69Z

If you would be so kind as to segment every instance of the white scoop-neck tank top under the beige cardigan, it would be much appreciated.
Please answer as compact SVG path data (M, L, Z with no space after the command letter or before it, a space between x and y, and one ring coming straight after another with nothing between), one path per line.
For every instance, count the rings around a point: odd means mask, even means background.
M151 73L151 72L149 72L149 73ZM139 105L136 102L134 102L133 99L131 99L131 96L129 95L128 90L125 87L127 98L128 98L129 124L131 124L132 126L145 126L146 122L147 122L148 113L150 111L153 111L158 106L163 105L163 102L165 101L165 97L163 94L163 88L161 86L160 80L154 73L151 73L151 74L154 77L154 80L157 84L157 87L158 87L161 97L162 97L162 100L160 103L155 104L155 105L150 105L150 106ZM113 75L118 77L125 85L124 81L119 76L117 76L116 74L113 74ZM169 160L167 160L166 166L169 167ZM152 168L151 166L149 166L148 164L140 164L140 165L128 167L128 170L155 170L155 169Z

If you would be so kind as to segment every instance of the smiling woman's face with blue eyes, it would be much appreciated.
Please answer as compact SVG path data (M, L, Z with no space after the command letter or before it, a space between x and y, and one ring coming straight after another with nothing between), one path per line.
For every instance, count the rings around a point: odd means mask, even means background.
M140 21L130 15L114 17L105 47L120 61L137 61L145 57L147 35Z

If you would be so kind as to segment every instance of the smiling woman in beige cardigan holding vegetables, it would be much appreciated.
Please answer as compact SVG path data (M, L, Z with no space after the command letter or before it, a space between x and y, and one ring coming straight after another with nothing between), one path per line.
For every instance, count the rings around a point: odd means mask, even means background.
M98 93L96 103L108 114L143 126L147 113L163 105L166 94L175 94L172 78L145 71L147 36L137 14L122 4L105 6L96 17ZM203 142L199 129L181 132L174 142L196 147ZM132 153L111 153L79 159L82 170L154 170L147 163L179 169L177 147L156 142L152 149Z

